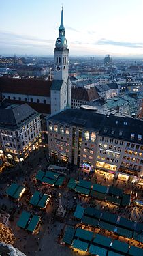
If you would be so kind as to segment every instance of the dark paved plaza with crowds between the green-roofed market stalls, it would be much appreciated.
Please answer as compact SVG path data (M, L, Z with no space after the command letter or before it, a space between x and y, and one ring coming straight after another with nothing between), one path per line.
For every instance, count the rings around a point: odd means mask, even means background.
M133 190L134 193L138 193L138 199L142 198L142 186L138 184L131 184L131 182L124 182L122 180L113 180L112 177L106 177L99 173L83 173L76 167L69 165L66 177L65 185L61 188L43 185L42 182L37 182L35 175L39 169L46 171L50 164L65 165L61 162L54 162L48 159L48 152L46 149L40 148L37 152L33 152L26 162L21 162L10 170L5 170L1 173L0 179L0 197L1 207L5 208L6 212L10 209L15 209L13 214L13 221L10 221L10 227L14 236L16 236L16 242L14 247L17 247L25 253L31 256L44 256L48 255L61 256L61 255L78 255L76 251L64 246L62 244L62 236L65 232L67 225L78 227L79 221L73 218L73 213L77 204L87 207L95 207L99 210L106 212L112 212L126 218L131 218L134 221L142 221L143 208L131 203L130 206L121 208L119 205L114 205L106 201L95 200L93 197L84 197L79 195L75 191L71 191L67 188L67 183L70 177L74 179L91 180L93 183L99 183L105 186L114 185L118 188L122 188L125 192ZM66 166L65 166L66 167ZM24 185L27 188L27 193L22 196L19 201L14 201L10 197L7 197L6 190L12 182L16 182L20 185ZM29 204L31 195L39 190L41 193L47 193L51 195L50 202L45 210L33 207ZM56 218L57 208L59 206L58 195L61 193L63 208L67 211L67 215L63 220ZM42 218L42 223L39 226L39 230L31 234L24 229L21 229L16 225L18 219L23 210L36 214ZM132 245L138 246L138 242L133 242ZM86 253L84 254L86 255Z

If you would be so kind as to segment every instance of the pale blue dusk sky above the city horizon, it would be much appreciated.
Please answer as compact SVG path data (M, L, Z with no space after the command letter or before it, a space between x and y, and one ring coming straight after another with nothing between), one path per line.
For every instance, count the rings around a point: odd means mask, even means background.
M142 0L1 0L0 55L54 55L63 3L70 55L143 57Z

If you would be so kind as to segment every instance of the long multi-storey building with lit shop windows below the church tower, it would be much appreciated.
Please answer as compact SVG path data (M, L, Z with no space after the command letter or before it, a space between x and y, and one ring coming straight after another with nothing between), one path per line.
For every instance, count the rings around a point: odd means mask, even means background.
M113 174L143 174L140 119L97 113L91 106L48 116L47 128L50 156Z

